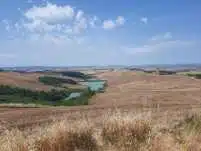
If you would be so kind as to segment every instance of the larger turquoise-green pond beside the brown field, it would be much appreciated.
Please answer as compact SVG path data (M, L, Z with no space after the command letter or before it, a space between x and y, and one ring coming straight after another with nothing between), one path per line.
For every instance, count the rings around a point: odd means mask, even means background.
M81 82L82 85L88 86L92 91L100 91L104 89L106 81L103 80L88 80Z

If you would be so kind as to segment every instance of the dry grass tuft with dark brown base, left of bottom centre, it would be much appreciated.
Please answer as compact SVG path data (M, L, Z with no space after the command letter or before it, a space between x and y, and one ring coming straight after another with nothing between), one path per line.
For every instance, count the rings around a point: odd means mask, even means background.
M93 136L93 127L87 122L70 124L59 122L35 143L37 151L95 151L97 142Z

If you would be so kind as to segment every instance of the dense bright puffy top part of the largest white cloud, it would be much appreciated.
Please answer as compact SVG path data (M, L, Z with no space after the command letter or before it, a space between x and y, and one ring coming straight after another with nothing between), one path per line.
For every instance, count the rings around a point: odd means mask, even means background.
M72 19L74 9L69 5L58 6L56 4L47 3L46 6L32 7L25 12L25 16L33 21L40 20L47 23L55 23Z

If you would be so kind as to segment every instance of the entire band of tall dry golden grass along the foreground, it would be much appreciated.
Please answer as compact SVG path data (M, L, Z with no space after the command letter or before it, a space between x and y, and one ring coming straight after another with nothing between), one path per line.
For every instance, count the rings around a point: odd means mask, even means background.
M150 116L115 112L94 125L89 119L55 121L25 136L18 130L0 137L0 151L200 151L201 116L187 114L162 130Z

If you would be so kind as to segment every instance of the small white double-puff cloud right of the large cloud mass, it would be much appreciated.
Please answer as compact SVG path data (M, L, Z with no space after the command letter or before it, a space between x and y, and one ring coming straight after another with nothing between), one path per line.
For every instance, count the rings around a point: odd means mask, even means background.
M104 20L103 28L106 30L114 29L118 26L122 26L125 23L125 19L123 16L118 16L116 20Z

